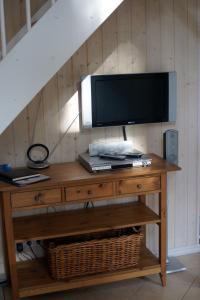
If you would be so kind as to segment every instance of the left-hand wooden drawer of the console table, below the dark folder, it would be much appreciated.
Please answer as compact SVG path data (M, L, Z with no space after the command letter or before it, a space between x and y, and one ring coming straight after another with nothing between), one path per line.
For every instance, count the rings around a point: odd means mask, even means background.
M11 195L11 201L13 208L54 204L61 202L61 190L14 193Z

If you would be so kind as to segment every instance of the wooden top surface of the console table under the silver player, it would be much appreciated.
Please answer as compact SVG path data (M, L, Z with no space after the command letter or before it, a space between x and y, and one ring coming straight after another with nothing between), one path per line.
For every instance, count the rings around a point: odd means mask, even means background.
M23 187L0 182L0 192L20 192L28 190L45 189L54 186L73 186L77 184L92 184L110 180L119 180L129 177L148 176L181 170L179 166L168 163L155 154L149 154L152 164L149 167L132 167L127 169L101 171L89 173L78 161L52 164L39 173L50 176L50 179Z

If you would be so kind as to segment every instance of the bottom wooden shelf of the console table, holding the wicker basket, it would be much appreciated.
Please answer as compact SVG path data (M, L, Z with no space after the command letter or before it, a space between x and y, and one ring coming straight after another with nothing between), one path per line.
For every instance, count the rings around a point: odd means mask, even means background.
M55 281L49 276L45 261L42 259L17 263L17 271L19 295L20 298L23 298L157 274L161 272L161 267L158 259L147 248L144 248L137 267L116 272Z

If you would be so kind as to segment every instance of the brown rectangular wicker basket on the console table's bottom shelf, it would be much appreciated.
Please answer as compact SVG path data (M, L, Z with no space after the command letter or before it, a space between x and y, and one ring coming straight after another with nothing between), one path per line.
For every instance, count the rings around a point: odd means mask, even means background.
M135 266L142 238L143 233L133 233L129 228L85 235L78 242L74 238L49 241L46 249L50 274L60 280Z

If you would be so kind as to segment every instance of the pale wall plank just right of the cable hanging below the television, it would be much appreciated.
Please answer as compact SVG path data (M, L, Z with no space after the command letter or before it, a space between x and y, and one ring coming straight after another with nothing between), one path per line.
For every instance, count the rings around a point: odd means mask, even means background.
M132 0L131 11L131 44L132 72L146 71L146 1ZM128 136L132 139L134 148L147 152L147 125L128 126Z

